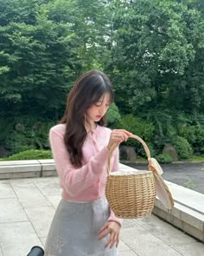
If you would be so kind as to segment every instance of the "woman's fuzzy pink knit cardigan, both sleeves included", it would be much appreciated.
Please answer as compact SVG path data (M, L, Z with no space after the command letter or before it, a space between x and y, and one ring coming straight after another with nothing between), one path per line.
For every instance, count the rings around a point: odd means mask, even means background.
M111 129L98 125L92 133L87 135L82 147L83 166L76 168L69 160L63 140L65 128L65 124L58 124L49 132L49 141L62 187L62 198L70 201L99 200L105 195L107 144ZM111 171L117 170L118 149L112 154L111 161ZM122 224L122 219L117 218L112 210L108 220Z

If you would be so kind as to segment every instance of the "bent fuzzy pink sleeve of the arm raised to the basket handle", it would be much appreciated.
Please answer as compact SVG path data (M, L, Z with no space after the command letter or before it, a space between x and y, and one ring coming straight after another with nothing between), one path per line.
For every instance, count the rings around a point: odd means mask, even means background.
M80 168L74 168L69 160L63 136L52 128L49 141L54 155L55 165L63 187L67 193L77 196L87 187L91 187L103 173L107 161L108 148L104 147L91 160Z

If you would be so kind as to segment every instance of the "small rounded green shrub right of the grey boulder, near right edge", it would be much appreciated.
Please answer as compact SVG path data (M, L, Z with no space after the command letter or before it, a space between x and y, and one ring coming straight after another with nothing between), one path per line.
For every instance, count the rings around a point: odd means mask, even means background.
M175 147L180 160L188 159L188 157L193 154L193 150L188 143L187 139L177 136L173 141L173 146Z

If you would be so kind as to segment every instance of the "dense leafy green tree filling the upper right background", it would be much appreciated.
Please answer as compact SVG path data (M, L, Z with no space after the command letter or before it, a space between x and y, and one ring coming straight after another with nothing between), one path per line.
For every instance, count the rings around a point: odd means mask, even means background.
M110 67L124 112L203 109L201 10L168 0L113 1L113 8Z

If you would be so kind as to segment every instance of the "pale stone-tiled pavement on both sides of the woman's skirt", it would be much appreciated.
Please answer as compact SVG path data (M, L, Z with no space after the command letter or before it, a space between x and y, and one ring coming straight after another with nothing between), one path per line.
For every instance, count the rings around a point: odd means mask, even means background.
M0 181L0 256L26 256L43 246L60 200L57 177ZM203 243L154 215L124 220L120 237L120 256L204 255Z

